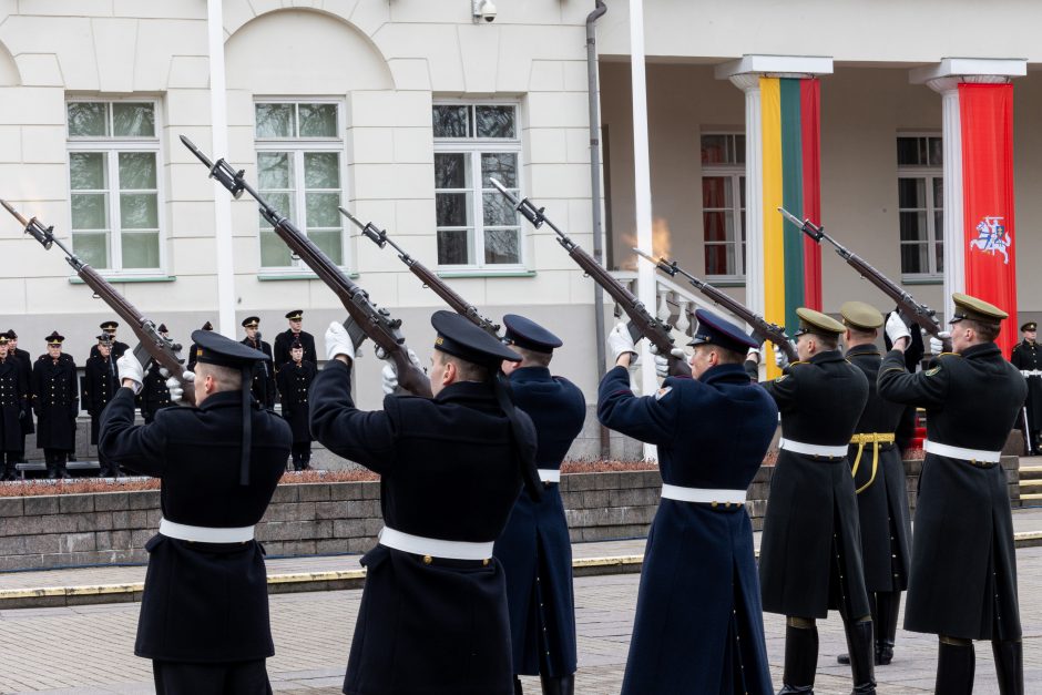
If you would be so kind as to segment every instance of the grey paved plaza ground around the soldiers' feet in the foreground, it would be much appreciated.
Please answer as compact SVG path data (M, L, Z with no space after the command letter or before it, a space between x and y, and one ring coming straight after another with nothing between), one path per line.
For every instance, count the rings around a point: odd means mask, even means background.
M1042 548L1018 551L1028 692L1042 692ZM639 576L589 576L575 582L580 668L576 692L617 693L626 661ZM326 591L272 596L276 655L268 662L280 693L338 693L361 592ZM0 693L151 693L150 662L133 656L139 605L118 603L0 611ZM784 620L765 616L767 651L780 687ZM692 625L697 631L697 625ZM836 665L846 651L838 616L820 623L816 693L850 692L849 672ZM898 633L895 663L877 671L880 695L930 693L936 640ZM990 645L978 645L975 693L997 693ZM528 693L538 693L527 679ZM681 689L678 693L683 692Z

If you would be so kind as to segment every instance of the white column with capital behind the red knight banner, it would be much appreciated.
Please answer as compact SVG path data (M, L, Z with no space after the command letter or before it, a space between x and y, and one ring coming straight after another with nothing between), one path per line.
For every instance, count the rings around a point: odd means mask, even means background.
M1017 59L944 58L936 65L909 72L912 84L926 84L941 95L941 135L944 140L944 304L951 316L951 295L966 289L966 229L962 211L962 117L959 84L1001 84L1028 74L1028 62ZM941 318L941 317L938 317Z

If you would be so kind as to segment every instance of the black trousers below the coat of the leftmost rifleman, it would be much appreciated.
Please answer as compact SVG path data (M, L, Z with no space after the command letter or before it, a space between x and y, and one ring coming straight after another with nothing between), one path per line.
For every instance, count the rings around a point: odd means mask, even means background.
M186 664L153 660L157 695L270 695L264 660Z

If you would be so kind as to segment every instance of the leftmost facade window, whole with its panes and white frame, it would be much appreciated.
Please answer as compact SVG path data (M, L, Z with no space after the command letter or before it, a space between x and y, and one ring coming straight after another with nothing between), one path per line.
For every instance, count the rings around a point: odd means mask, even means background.
M99 270L163 266L155 102L65 104L72 248Z

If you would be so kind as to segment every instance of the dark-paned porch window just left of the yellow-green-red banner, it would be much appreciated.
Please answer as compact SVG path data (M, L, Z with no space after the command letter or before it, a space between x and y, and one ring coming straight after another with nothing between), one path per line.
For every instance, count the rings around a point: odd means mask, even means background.
M745 277L745 135L702 134L705 274Z

